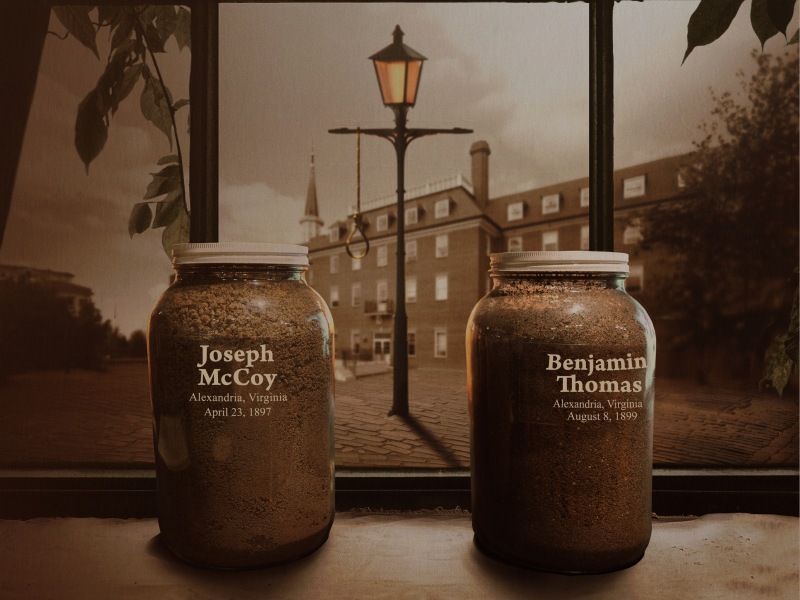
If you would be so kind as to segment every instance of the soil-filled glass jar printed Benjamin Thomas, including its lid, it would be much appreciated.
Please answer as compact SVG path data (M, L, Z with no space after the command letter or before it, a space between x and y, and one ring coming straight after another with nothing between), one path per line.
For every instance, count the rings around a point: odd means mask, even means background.
M509 562L637 563L651 532L655 332L628 255L492 254L467 325L472 526Z

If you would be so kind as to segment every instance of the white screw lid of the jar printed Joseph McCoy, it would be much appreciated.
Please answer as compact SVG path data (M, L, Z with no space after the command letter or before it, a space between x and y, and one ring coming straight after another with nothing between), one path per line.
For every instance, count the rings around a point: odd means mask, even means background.
M308 265L308 248L294 244L175 244L172 256L176 265Z

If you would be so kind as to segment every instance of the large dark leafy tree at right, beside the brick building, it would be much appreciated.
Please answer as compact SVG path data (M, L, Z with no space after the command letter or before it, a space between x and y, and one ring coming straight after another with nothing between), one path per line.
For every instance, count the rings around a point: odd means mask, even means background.
M800 52L753 52L741 92L716 95L683 168L689 190L644 220L644 246L671 256L661 299L689 325L686 344L754 349L791 305L800 248ZM744 97L744 98L743 98ZM766 377L766 376L765 376ZM788 380L788 376L787 376ZM783 390L786 382L772 381Z

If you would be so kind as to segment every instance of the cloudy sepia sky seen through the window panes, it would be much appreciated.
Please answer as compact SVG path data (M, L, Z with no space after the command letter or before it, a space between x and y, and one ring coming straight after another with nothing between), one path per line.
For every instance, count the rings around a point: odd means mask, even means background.
M728 32L681 66L691 0L614 8L615 156L622 168L692 150L713 107L709 86L736 92L759 47L749 2ZM789 36L797 28L795 15ZM392 127L368 57L392 41L425 55L409 125L469 135L414 141L406 189L470 177L470 146L491 149L490 198L588 176L589 9L583 3L269 3L220 6L220 241L299 243L315 155L320 217L347 217L356 198L354 136L336 127ZM63 33L53 17L50 29ZM101 36L102 37L102 36ZM782 36L765 47L785 52ZM0 264L75 275L124 334L145 329L172 272L161 230L130 239L128 215L171 153L139 109L142 83L113 117L87 175L73 146L78 104L102 61L73 38L47 36ZM174 40L159 66L174 98L188 97L190 54ZM188 110L179 116L188 157ZM394 149L361 143L361 199L393 194Z

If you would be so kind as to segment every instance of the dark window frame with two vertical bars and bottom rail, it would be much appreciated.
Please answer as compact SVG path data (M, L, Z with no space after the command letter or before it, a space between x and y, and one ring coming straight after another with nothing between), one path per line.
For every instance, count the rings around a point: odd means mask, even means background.
M121 0L119 4L128 4ZM132 3L130 3L132 4ZM199 18L192 19L193 30L204 23L208 31L193 32L192 70L199 85L191 86L191 153L199 158L190 162L190 180L209 193L193 194L193 242L213 242L219 206L213 187L218 156L216 106L218 105L218 2L192 3ZM613 3L589 3L590 112L601 117L598 124L590 115L590 187L609 189L613 198ZM198 35L195 35L195 34ZM203 35L199 35L202 33ZM206 107L211 107L206 109ZM609 123L612 125L609 127ZM597 132L603 132L596 135ZM605 157L605 160L603 160ZM613 158L612 158L613 160ZM598 177L599 176L599 177ZM600 181L598 181L598 179ZM646 185L646 183L645 183ZM194 186L193 186L194 187ZM608 194L606 194L608 195ZM590 200L592 219L602 218L608 200L603 194ZM613 204L613 202L612 202ZM598 217L601 215L601 217ZM449 216L449 205L448 205ZM210 223L210 224L209 224ZM612 221L613 223L613 221ZM607 231L603 223L592 226L593 239ZM196 232L200 233L196 235ZM341 231L337 232L339 241ZM491 242L489 242L491 243ZM332 286L338 292L338 286ZM800 491L796 468L697 468L688 466L654 467L653 510L659 514L709 512L751 512L800 516ZM431 473L403 470L348 470L336 472L336 509L379 506L386 509L471 508L469 471L445 470ZM444 500L443 498L448 498ZM433 499L431 503L430 499ZM156 511L156 480L152 463L136 464L0 464L0 518L97 517L152 518Z

